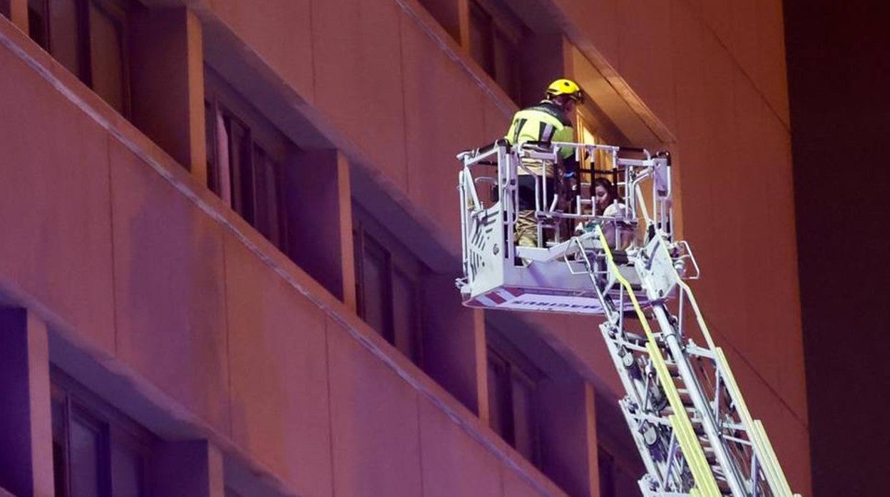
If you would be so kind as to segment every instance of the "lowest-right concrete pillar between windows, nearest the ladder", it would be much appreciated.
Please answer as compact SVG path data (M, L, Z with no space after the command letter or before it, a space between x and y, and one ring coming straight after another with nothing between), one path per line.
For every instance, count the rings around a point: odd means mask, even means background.
M599 495L594 391L584 381L538 383L542 469L570 495Z

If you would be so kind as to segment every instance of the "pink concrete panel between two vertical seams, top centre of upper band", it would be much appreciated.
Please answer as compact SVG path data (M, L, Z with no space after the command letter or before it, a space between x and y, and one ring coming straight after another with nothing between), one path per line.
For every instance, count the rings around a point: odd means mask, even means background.
M313 1L312 71L318 108L404 189L408 124L400 12L394 2Z

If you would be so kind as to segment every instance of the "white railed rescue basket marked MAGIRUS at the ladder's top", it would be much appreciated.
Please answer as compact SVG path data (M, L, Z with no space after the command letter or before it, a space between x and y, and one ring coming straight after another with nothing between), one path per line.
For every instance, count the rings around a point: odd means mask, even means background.
M593 167L578 174L571 188L560 191L553 185L565 184L558 160L565 148L575 151L578 162L589 159ZM463 163L458 189L464 255L464 277L457 285L466 306L602 315L596 279L615 276L606 270L602 242L583 228L580 233L574 231L577 225L594 224L614 232L612 252L626 261L619 272L631 283L637 301L648 303L637 272L620 249L634 250L635 238L643 237L637 230L636 212L640 206L645 208L636 198L643 181L651 181L652 204L660 209L654 214L662 226L670 226L667 156L653 157L639 148L581 143L530 142L512 147L499 140L486 148L461 152L457 158ZM547 172L557 180L543 180ZM592 212L591 173L608 176L624 194L618 216ZM538 179L534 211L537 246L515 243L520 213L518 183L523 174ZM623 288L613 291L611 301L621 309L631 309L623 292Z

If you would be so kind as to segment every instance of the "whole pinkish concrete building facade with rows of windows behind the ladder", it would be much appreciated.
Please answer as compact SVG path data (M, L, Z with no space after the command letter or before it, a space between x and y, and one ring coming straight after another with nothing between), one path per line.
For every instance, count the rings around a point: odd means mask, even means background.
M811 493L780 1L0 13L7 493L637 494L598 323L454 288L455 154L559 76L580 138L671 150L695 290Z

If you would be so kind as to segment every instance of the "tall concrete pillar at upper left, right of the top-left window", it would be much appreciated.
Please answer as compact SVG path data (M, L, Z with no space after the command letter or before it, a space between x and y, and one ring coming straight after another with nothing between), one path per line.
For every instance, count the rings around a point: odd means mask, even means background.
M184 7L146 9L132 17L133 123L206 184L201 24Z

